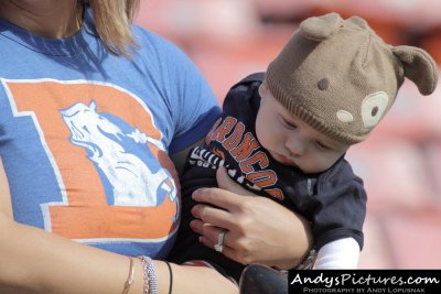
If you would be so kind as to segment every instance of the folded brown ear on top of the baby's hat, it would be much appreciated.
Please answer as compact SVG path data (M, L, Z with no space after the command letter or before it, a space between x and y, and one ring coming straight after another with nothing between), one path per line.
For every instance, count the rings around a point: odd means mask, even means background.
M336 32L343 19L335 12L322 17L309 18L300 23L300 33L310 40L322 41Z

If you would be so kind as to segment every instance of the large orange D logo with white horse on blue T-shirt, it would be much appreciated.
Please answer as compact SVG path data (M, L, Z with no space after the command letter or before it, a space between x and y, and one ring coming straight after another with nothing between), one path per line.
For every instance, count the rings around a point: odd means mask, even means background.
M41 205L46 230L163 240L176 229L176 172L140 98L84 80L3 84L14 116L32 117L62 192L61 202Z

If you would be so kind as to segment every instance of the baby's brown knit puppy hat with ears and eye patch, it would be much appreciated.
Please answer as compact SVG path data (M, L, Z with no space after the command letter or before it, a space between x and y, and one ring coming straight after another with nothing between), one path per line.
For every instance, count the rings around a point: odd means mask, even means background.
M268 66L266 83L319 132L358 143L394 104L405 77L433 92L438 66L421 48L390 46L366 23L337 13L304 20Z

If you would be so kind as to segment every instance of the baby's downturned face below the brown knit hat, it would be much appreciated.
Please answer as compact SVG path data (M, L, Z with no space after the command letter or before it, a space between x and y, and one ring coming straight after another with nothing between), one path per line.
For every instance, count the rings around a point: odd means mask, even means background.
M257 113L256 134L276 161L295 166L304 173L321 173L349 148L319 133L290 113L276 100L265 83L259 94L261 105Z

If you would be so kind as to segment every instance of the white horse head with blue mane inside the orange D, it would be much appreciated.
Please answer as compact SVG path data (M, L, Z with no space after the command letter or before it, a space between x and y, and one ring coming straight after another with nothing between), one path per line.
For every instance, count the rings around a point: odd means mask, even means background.
M140 130L122 128L121 120L97 111L92 100L61 110L71 130L71 142L87 151L104 185L108 202L116 206L158 206L166 196L176 200L176 186L170 173L154 161L148 142L162 143ZM142 154L149 153L149 156Z

